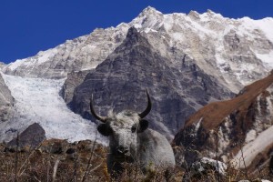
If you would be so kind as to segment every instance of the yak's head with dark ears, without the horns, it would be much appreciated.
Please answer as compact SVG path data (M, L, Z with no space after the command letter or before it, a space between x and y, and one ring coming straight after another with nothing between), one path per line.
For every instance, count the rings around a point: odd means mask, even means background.
M145 131L147 127L147 120L136 113L123 111L106 117L106 123L97 126L97 130L103 136L109 136L111 154L124 159L136 156L137 133Z

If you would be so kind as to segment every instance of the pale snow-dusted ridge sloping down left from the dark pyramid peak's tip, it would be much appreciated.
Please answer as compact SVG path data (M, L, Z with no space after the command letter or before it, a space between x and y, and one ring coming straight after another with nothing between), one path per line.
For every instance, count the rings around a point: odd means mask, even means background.
M125 35L122 27L96 29L90 35L67 40L36 56L16 60L5 66L3 72L23 77L65 78L71 71L95 68L122 43Z

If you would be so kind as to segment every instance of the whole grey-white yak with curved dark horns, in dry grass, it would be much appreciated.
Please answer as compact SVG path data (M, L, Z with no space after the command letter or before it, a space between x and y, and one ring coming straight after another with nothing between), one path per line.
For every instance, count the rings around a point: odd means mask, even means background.
M107 155L107 169L110 174L120 174L124 170L124 163L136 163L143 171L147 167L174 167L174 152L167 138L157 131L148 128L148 121L144 119L152 108L147 91L147 108L142 113L124 110L113 112L108 116L96 114L90 99L92 115L102 123L97 130L103 136L109 137L109 154Z

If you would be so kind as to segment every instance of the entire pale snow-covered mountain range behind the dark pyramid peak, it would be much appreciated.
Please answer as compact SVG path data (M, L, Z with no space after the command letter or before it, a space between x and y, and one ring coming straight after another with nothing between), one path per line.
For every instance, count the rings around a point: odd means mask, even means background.
M210 10L201 15L195 11L164 15L147 7L130 23L96 29L36 56L16 60L3 71L54 78L94 68L122 43L131 26L174 64L179 61L179 53L185 53L234 92L262 78L273 67L273 18L230 19Z

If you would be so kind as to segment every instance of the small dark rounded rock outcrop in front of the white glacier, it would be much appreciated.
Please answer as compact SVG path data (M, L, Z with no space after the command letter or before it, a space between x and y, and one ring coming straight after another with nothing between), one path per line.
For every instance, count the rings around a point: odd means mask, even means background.
M25 129L25 131L23 131L19 135L18 141L17 141L17 138L14 138L10 142L8 142L7 147L15 148L18 145L19 148L26 147L26 146L35 148L35 147L38 147L39 144L41 144L44 139L45 139L45 130L39 124L34 123L31 126L28 126Z

